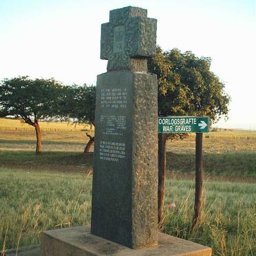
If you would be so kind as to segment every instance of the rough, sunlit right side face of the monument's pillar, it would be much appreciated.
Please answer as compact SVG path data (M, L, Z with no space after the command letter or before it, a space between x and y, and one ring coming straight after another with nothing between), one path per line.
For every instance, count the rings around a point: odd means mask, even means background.
M134 73L131 117L132 248L157 245L158 100L155 74Z

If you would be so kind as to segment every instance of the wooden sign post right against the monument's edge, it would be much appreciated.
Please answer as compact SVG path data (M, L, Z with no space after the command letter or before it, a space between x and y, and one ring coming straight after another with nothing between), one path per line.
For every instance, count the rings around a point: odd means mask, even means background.
M158 226L162 229L167 134L158 134Z

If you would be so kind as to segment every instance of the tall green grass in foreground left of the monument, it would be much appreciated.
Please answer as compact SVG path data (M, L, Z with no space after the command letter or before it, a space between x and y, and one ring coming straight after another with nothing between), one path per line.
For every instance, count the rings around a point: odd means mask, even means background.
M39 244L47 229L89 224L87 173L0 170L0 250Z

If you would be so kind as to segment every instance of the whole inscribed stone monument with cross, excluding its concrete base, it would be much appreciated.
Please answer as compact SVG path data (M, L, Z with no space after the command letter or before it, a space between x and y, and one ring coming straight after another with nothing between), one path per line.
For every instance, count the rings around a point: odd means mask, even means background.
M158 244L158 86L147 73L155 54L147 10L110 11L101 26L107 73L96 87L92 234L129 248Z

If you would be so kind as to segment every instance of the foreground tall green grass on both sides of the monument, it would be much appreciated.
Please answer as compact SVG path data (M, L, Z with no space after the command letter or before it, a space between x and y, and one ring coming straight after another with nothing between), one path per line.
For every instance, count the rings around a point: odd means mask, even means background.
M193 193L190 180L167 180L164 232L211 246L214 255L255 255L256 186L205 182L202 225L195 232ZM89 224L92 176L1 168L0 195L1 248L38 244L46 229Z

